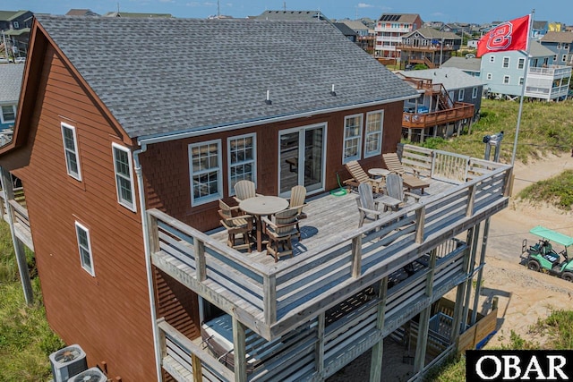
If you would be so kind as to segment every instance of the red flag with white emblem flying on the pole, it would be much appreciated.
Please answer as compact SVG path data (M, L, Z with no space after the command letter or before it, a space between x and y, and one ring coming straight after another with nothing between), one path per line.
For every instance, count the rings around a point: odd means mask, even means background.
M493 27L477 42L477 56L506 50L526 50L530 15Z

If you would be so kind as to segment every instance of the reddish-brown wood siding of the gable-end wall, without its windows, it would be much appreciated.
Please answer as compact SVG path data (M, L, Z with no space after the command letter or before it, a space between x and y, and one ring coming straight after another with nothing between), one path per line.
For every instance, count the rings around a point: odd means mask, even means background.
M90 366L106 361L110 378L155 380L141 208L116 199L111 145L122 139L54 49L45 60L30 165L13 173L26 192L49 324L81 345ZM75 127L82 182L66 173L62 122ZM90 230L95 277L81 268L75 221Z

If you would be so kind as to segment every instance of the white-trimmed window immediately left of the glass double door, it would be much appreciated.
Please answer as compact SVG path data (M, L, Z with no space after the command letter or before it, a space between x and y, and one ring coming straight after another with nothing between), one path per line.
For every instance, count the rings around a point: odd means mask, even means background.
M255 134L227 138L229 195L235 195L235 183L257 180L257 140Z

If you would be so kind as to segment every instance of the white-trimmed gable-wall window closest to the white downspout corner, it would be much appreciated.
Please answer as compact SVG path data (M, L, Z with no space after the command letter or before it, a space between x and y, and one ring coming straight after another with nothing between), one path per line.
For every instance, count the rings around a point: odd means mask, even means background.
M111 147L114 156L117 202L125 208L129 208L135 212L132 153L129 149L124 148L115 142L112 142Z

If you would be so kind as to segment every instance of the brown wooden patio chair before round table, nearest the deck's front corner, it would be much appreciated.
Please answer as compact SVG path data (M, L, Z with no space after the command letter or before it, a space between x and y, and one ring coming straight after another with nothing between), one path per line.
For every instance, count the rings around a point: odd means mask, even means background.
M269 236L267 243L267 253L275 258L275 262L283 255L293 257L293 236L299 236L296 229L298 219L298 208L287 208L274 215L274 221L267 216L262 217L265 224L266 233Z

